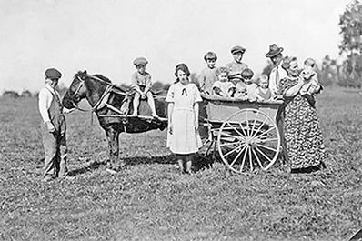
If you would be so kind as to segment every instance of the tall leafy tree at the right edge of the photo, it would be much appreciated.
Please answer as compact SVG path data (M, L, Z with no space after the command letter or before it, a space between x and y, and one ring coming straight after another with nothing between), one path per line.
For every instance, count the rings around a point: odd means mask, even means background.
M340 15L339 26L342 35L340 54L347 55L344 64L346 78L343 81L348 82L348 85L362 86L362 3L360 1L354 0L346 6L345 12Z

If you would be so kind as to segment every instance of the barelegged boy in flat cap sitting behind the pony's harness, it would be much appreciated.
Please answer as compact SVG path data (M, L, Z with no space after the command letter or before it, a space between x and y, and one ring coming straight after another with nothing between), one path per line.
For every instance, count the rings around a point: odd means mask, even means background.
M156 114L155 100L151 92L151 75L146 72L146 65L148 61L144 57L137 57L133 64L136 66L136 73L132 75L131 87L136 91L133 100L133 114L131 116L138 115L138 105L140 99L147 99L148 105L151 108L152 116L158 117Z

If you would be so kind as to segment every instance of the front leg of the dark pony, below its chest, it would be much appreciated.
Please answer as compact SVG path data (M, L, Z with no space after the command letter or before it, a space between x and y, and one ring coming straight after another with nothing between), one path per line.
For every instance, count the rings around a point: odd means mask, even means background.
M123 168L123 161L119 161L119 131L113 127L109 127L106 130L106 136L108 140L109 161L111 168L114 170Z

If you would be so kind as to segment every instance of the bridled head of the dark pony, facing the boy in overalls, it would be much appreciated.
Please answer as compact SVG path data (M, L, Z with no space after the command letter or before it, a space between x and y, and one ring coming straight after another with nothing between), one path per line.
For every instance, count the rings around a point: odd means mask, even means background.
M87 77L86 70L79 71L75 74L69 89L63 97L63 105L65 108L72 109L77 107L79 102L86 96L85 79Z

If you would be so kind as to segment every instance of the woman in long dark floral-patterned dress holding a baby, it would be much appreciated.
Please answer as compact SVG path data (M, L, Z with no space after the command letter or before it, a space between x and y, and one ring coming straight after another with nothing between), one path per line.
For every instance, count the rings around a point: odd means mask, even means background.
M317 109L299 94L304 83L298 77L297 58L285 60L283 68L287 70L287 77L280 80L278 89L285 101L284 135L291 172L317 171L324 166L325 159Z

